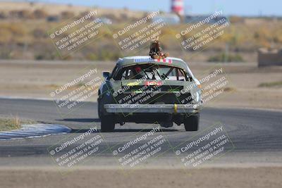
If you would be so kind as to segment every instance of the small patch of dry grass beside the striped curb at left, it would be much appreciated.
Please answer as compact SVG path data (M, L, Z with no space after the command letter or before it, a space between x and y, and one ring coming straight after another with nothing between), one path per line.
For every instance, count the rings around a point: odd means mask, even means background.
M35 121L32 120L20 120L15 118L0 118L0 131L18 130L23 124L32 124Z

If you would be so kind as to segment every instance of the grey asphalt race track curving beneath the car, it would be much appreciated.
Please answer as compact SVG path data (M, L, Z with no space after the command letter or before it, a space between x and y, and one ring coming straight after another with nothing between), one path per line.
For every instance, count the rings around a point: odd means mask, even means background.
M142 135L157 125L125 123L116 125L115 132L100 133L97 103L85 102L80 108L67 115L59 113L53 101L33 99L0 99L0 115L17 115L20 118L37 120L39 123L54 123L71 127L70 134L51 135L34 139L0 141L0 166L56 165L47 149L59 146L62 140L79 136L91 127L97 127L86 139L101 135L99 152L80 165L116 165L113 156L116 146L129 142L135 135ZM207 164L254 164L282 162L282 112L243 108L204 108L198 132L185 132L183 126L163 128L156 135L163 135L169 143L163 145L163 153L147 165L181 164L175 154L175 146L204 135L213 125L222 125L232 144L226 145L226 154ZM73 146L79 146L80 141ZM144 144L141 141L134 148ZM227 152L228 151L228 152ZM121 156L123 156L121 154ZM155 158L156 159L156 158Z

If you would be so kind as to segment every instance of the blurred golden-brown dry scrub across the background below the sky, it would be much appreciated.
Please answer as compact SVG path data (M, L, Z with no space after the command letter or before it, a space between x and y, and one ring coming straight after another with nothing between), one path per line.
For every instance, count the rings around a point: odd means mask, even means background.
M140 15L142 16L142 15ZM47 32L58 27L66 20L61 20L59 23L49 23L44 19L23 19L23 20L0 20L0 58L11 59L37 59L37 60L56 60L61 59L57 53L54 44L47 36ZM108 25L101 32L104 34L101 38L95 39L92 44L89 44L79 51L71 54L66 60L116 60L119 56L127 56L134 54L125 54L121 51L113 41L112 33L117 30L122 30L125 27L125 22L121 20L118 24ZM181 30L189 27L188 24L183 25L168 25L164 28L161 34L161 44L165 51L169 51L172 56L194 56L192 51L185 51L180 47L180 41L176 39L176 34ZM189 36L183 37L187 39L196 32L200 32L204 27L195 30ZM109 30L108 30L109 29ZM131 35L137 30L130 31ZM128 37L128 36L123 36ZM220 54L225 51L228 44L229 54L235 54L235 61L245 59L245 54L250 54L250 58L245 61L257 61L253 54L260 47L281 47L282 46L282 20L262 19L259 23L245 23L243 21L234 21L231 19L231 25L226 29L224 35L214 40L212 45L205 46L200 51L205 53L205 59L200 59L200 56L195 58L196 61L207 61L210 56L207 54ZM147 49L142 49L139 54L147 54ZM200 52L196 51L196 52ZM185 55L186 54L186 55ZM219 56L221 58L221 56ZM193 61L195 61L193 59Z

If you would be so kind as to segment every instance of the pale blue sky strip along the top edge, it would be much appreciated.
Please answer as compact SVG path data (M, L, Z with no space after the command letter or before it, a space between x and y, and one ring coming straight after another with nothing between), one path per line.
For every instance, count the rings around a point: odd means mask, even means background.
M169 11L171 0L32 0L80 4L142 11ZM211 13L223 10L226 15L281 15L281 0L184 0L185 13Z

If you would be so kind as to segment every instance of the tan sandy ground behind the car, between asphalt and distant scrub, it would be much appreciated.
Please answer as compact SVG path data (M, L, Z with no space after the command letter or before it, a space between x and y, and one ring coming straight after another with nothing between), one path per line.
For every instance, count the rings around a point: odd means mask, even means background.
M0 61L0 96L51 99L54 89L80 76L85 68L112 70L114 62L78 61ZM189 63L196 77L212 68L223 68L228 77L228 92L207 106L244 108L282 108L282 87L258 87L261 83L281 82L282 68L257 68L256 63ZM280 99L280 100L279 100ZM96 101L97 96L87 99Z

